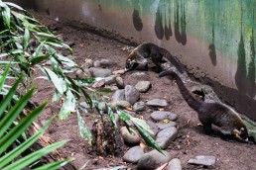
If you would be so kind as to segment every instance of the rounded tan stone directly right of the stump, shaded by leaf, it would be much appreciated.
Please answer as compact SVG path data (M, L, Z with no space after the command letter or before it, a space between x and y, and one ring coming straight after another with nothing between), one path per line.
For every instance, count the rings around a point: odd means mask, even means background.
M121 135L123 136L124 141L127 144L131 144L131 145L139 144L141 142L140 135L138 134L137 131L135 131L131 127L130 127L130 130L132 131L132 133L130 133L126 127L121 127L120 132L121 132Z

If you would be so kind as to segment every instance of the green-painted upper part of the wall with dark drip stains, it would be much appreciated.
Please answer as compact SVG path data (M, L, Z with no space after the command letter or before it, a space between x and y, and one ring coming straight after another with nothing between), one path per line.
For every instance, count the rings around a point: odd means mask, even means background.
M226 57L226 62L236 63L236 68L231 67L236 69L233 70L236 88L255 97L254 0L98 0L96 3L102 9L127 13L133 9L133 26L137 32L143 32L144 16L154 16L151 20L158 40L175 39L186 45L189 37L193 37L208 44L205 59L216 66L217 50L221 57Z

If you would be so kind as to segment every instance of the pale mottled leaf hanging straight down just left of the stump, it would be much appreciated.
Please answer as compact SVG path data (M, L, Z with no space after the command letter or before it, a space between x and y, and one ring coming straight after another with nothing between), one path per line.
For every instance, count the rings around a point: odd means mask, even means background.
M80 135L86 140L88 140L88 144L91 145L91 141L92 141L91 132L89 128L86 126L86 123L83 121L82 117L80 116L80 113L76 111L76 114L77 114L77 121L78 121Z

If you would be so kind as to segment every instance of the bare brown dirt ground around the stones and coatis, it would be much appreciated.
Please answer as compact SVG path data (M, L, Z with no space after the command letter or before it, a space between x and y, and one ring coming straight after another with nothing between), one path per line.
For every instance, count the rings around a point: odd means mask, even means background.
M124 62L128 55L127 51L121 50L127 46L121 42L106 39L85 30L78 30L60 22L46 19L36 15L43 24L47 26L54 25L58 34L63 34L65 42L75 42L73 51L74 60L77 63L84 62L85 58L92 60L108 58L115 62L111 69L118 70L124 68ZM144 72L146 76L135 76L134 73ZM152 70L138 71L134 70L122 75L125 84L135 85L139 80L148 80L152 83L152 88L147 93L142 93L140 101L147 101L154 98L164 98L167 96L170 106L165 108L178 114L178 138L168 147L173 158L180 158L184 169L203 169L200 166L189 165L188 161L196 155L213 155L216 157L216 163L209 169L220 170L253 170L256 169L256 145L249 143L240 143L238 141L224 141L218 136L209 136L204 134L202 127L197 127L199 121L196 113L188 106L183 99L177 85L167 78L159 78L158 74ZM41 80L42 81L42 80ZM41 103L45 100L51 101L54 87L51 83L38 82L38 91L34 100ZM187 84L190 86L190 84ZM60 104L50 103L39 122L44 124L54 114L60 111ZM145 120L149 119L150 114L156 109L147 108L146 111L139 113ZM89 113L83 115L83 119L91 127L95 114ZM85 169L95 169L101 167L113 167L118 165L127 165L134 169L136 166L122 161L122 157L100 157L88 154L88 145L86 141L79 136L76 115L72 114L64 121L56 120L49 128L48 134L55 140L69 139L70 141L61 149L66 157L74 157L72 164L78 169L87 162ZM128 148L128 147L127 147Z

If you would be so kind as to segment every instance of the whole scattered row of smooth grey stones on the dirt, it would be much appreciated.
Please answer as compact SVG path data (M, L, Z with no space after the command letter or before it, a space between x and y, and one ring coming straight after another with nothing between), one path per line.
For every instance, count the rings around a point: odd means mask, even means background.
M123 156L123 160L128 163L137 164L137 169L156 169L161 165L166 164L169 170L181 170L182 163L179 158L172 157L166 149L177 138L178 129L176 120L177 114L168 111L158 111L158 108L165 108L169 106L166 99L152 99L150 101L140 101L140 94L147 93L152 84L150 81L138 81L133 85L125 85L121 77L124 73L123 70L112 71L111 67L116 63L109 59L101 59L92 61L86 59L83 64L83 71L77 70L76 77L96 77L100 80L92 85L92 88L100 88L105 85L111 85L109 88L113 90L109 106L115 108L129 108L132 112L131 115L136 117L136 113L143 112L147 107L155 110L151 113L150 120L145 120L149 127L153 130L152 136L155 138L158 145L163 149L163 153L157 150L151 150L145 153L144 148L141 146L142 139L139 133L133 128L133 123L127 123L130 126L131 133L126 127L120 127L120 133L124 143L129 147ZM114 85L113 85L114 84ZM85 102L80 103L84 108L88 108ZM106 111L105 103L100 103L103 111ZM128 112L128 111L127 111ZM115 115L116 123L119 123L118 115ZM189 161L191 164L200 164L211 166L215 163L214 157L196 156L195 159ZM127 169L123 167L121 169Z

